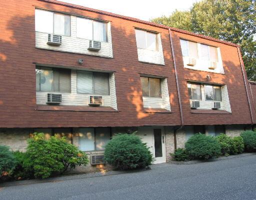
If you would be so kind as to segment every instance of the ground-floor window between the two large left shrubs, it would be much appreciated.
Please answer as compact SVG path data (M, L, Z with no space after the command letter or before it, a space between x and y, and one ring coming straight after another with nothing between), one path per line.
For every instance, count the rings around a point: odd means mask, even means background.
M110 140L110 128L79 128L79 149L83 151L104 150Z

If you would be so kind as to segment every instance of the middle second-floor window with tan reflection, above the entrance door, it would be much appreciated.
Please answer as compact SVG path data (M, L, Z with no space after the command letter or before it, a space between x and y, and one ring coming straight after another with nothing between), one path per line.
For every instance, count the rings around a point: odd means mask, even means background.
M140 77L142 96L161 97L161 79Z

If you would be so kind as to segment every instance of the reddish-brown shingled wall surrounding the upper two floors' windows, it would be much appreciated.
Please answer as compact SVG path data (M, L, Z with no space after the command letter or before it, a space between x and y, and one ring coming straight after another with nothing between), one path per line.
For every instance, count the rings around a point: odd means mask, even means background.
M111 21L113 58L35 48L34 8L80 14ZM0 7L0 127L79 127L179 125L174 66L168 30L37 0L1 0ZM161 33L165 65L138 62L134 26ZM232 114L192 114L186 79L204 80L208 73L184 69L178 37L220 47L225 74L210 73L212 82L225 83ZM236 47L173 32L185 124L250 123L248 103ZM82 66L77 59L84 59ZM118 112L35 110L35 63L113 70ZM139 73L167 77L172 113L143 111ZM241 111L242 109L242 111Z

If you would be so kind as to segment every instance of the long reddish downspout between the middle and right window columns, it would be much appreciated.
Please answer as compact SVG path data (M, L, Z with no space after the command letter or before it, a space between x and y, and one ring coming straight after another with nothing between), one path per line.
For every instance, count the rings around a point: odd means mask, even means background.
M176 67L176 60L175 60L175 54L174 54L174 48L173 48L173 41L172 41L172 35L171 30L169 30L169 38L170 38L170 47L171 47L171 54L174 64L174 73L175 73L175 79L176 79L176 86L177 86L177 94L178 94L178 104L179 104L179 113L180 113L180 120L181 120L181 126L174 128L174 149L177 149L177 140L176 140L176 132L177 130L181 129L184 126L184 120L183 120L183 112L182 112L182 104L181 104L181 98L180 98L180 91L179 91L179 84L178 84L178 75L177 75L177 67Z

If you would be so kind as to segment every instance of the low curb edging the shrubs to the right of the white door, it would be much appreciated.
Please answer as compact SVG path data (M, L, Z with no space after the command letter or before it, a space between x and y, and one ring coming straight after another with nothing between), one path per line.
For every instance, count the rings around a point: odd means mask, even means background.
M231 159L231 158L237 158L237 157L243 157L243 156L249 156L249 155L256 155L256 153L241 153L237 155L228 155L228 156L221 156L217 158L212 158L208 160L190 160L190 161L168 161L169 164L196 164L196 163L201 163L201 162L211 162L211 161L216 161L216 160L221 160L221 159Z

